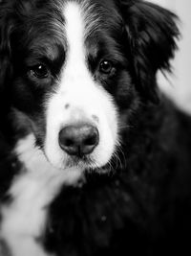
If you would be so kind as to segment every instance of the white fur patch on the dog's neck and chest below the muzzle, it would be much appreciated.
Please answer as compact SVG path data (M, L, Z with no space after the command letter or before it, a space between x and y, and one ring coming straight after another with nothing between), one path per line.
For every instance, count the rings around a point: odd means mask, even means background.
M80 172L58 170L34 147L33 135L18 142L15 152L24 164L10 189L11 204L3 205L1 238L11 248L12 256L45 256L36 242L43 234L47 207L62 184L74 184Z

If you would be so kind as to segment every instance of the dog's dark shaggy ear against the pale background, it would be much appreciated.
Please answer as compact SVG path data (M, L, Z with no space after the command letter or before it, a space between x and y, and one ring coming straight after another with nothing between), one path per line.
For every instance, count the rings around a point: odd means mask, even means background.
M159 102L156 74L170 71L169 59L177 49L178 17L155 4L119 0L136 71L137 85L144 98Z

